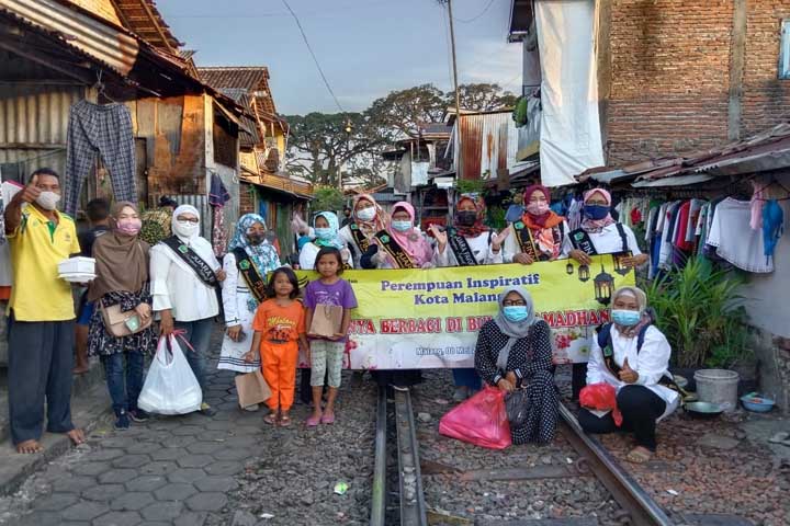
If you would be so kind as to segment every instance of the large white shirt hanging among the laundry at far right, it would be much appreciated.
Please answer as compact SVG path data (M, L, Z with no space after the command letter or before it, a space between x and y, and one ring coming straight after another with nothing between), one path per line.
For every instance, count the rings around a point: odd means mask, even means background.
M766 258L763 232L749 226L752 203L732 197L719 203L713 213L713 222L708 244L715 247L719 258L738 268L755 273L774 272L774 259Z

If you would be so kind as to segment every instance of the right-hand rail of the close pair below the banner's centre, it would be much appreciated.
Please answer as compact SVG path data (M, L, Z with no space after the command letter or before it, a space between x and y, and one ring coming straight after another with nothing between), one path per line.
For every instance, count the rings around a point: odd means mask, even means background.
M400 525L426 526L428 514L422 493L419 446L409 389L395 388L395 427L400 483Z

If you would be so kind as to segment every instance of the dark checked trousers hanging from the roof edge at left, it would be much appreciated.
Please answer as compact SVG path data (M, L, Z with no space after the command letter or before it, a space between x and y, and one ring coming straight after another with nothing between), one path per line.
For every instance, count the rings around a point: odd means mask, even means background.
M64 211L75 216L82 182L101 156L110 172L115 201L137 203L132 115L123 104L79 101L71 106L66 148Z

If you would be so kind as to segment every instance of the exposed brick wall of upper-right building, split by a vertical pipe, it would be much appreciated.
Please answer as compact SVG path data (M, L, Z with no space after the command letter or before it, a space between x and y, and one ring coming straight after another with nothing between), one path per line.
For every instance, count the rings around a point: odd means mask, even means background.
M777 80L779 30L790 0L748 0L742 134L790 110ZM611 0L609 164L727 141L733 0ZM605 93L602 94L605 95Z

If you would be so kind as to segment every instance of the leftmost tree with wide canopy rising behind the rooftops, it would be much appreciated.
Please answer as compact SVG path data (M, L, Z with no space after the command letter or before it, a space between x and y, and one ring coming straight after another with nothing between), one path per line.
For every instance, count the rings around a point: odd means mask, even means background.
M314 184L338 186L354 178L362 158L377 158L390 138L362 113L285 117L291 126L286 165Z

